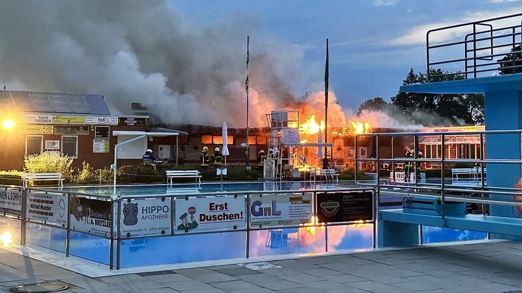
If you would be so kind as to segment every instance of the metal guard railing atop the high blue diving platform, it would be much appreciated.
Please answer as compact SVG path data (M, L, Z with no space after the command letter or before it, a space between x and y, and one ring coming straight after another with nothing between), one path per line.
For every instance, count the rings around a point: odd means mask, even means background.
M465 79L522 72L522 14L495 17L429 30L426 33L426 73L428 82L447 76ZM461 58L447 59L447 56ZM503 57L510 59L504 59ZM499 58L499 59L496 59ZM461 64L461 65L460 65ZM430 68L455 70L432 74ZM457 77L458 79L458 77Z

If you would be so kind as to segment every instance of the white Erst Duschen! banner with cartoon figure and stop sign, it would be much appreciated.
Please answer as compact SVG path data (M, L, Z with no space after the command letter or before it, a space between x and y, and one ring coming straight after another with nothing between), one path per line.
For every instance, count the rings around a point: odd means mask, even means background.
M174 233L246 227L245 198L224 196L176 199Z

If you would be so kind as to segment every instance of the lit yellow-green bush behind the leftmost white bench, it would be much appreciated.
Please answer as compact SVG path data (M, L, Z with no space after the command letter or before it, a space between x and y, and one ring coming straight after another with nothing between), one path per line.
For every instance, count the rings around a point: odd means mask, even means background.
M73 159L58 152L44 152L25 156L23 170L28 173L62 173L65 182L70 182L73 174ZM48 184L46 181L40 181Z

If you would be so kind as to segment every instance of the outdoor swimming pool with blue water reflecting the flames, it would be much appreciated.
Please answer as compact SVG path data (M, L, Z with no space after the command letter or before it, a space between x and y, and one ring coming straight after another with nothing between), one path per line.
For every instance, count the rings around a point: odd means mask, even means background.
M146 197L156 195L161 198L176 198L181 194L191 197L205 197L205 193L269 191L286 193L289 190L300 191L303 194L313 190L340 190L347 186L356 187L353 182L329 184L326 182L223 182L212 184L183 184L183 185L128 185L117 186L82 186L65 187L64 193L91 194L96 197L125 198ZM56 190L54 190L56 191ZM299 194L299 193L298 193ZM114 195L116 195L114 197ZM158 197L157 197L158 198ZM184 196L173 200L183 202ZM159 201L159 199L157 199ZM117 203L112 202L113 215L116 214ZM131 201L123 201L131 203ZM246 202L244 203L246 204ZM174 209L173 209L174 210ZM2 227L15 229L17 225L10 222L13 219L2 219ZM122 223L113 218L114 226ZM25 241L29 245L50 248L56 251L76 255L103 264L111 263L111 240L96 233L74 228L74 220L70 222L73 229L64 229L49 223L28 221L25 225ZM177 219L175 219L177 221ZM16 222L16 221L15 221ZM4 223L8 223L5 224ZM10 224L9 224L10 223ZM81 223L76 223L77 225ZM69 224L68 224L69 225ZM176 224L177 225L177 224ZM18 225L19 227L19 225ZM175 226L174 226L175 227ZM423 226L422 240L425 243L438 241L485 239L487 234L473 231L426 227ZM202 234L169 234L144 235L125 237L122 234L119 240L119 251L112 246L112 260L119 255L120 267L141 265L155 265L167 263L181 263L211 259L243 258L286 253L324 253L355 249L371 249L374 244L374 224L357 223L351 225L323 225L323 226L293 226L282 228L266 228L245 231L238 229ZM19 228L18 228L19 231ZM2 232L2 231L0 231ZM19 231L21 232L21 231ZM69 237L67 237L69 235Z

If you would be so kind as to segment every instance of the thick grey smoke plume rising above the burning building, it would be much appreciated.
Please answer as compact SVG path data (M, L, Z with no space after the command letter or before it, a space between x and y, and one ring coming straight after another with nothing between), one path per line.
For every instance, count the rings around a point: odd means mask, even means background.
M139 102L164 123L245 127L250 34L250 126L267 126L272 109L300 110L290 85L302 80L303 52L254 34L256 17L235 13L205 27L174 5L6 0L0 80L9 90L101 93L114 114L131 115Z

